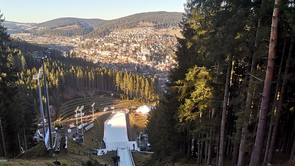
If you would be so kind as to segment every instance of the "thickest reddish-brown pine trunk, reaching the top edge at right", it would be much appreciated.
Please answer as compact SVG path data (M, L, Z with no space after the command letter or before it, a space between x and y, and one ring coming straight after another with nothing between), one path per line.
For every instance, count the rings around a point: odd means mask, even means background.
M272 25L271 25L271 36L270 36L270 44L269 44L269 52L268 52L268 63L266 70L266 77L264 81L264 88L260 106L260 116L258 122L258 128L256 133L256 139L254 144L254 149L251 155L250 166L258 166L259 159L261 156L261 151L263 148L263 137L266 128L266 114L268 113L269 107L269 98L271 92L273 71L275 68L275 58L276 58L276 49L277 49L277 40L278 40L278 22L280 12L276 7L281 0L275 0L275 8L273 11Z

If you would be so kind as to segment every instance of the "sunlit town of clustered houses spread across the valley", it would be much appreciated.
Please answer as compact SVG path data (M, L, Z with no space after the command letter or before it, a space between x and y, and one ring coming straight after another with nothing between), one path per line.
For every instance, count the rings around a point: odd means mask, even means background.
M113 31L99 39L49 35L12 36L29 42L66 46L61 49L63 56L80 57L97 63L100 67L137 72L152 78L156 75L162 88L169 81L169 69L176 65L172 58L177 46L176 37L158 35L153 29Z

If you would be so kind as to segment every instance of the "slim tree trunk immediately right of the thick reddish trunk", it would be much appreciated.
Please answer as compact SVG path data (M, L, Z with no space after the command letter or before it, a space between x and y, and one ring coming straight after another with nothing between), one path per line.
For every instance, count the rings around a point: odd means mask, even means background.
M285 39L284 46L283 46L281 63L280 63L280 69L279 69L277 83L276 83L276 92L275 92L275 97L274 97L274 101L273 101L273 104L272 104L271 122L270 122L270 125L269 125L269 131L268 131L268 136L267 136L267 143L266 143L266 150L265 150L265 156L264 156L263 166L266 166L267 157L268 157L268 151L269 151L269 146L271 144L271 133L272 133L273 120L274 120L273 115L275 113L276 105L277 105L277 96L278 96L278 92L279 92L279 84L281 82L280 80L281 80L282 64L283 64L283 59L284 59L284 54L285 54L285 48L286 48L286 41L287 40Z

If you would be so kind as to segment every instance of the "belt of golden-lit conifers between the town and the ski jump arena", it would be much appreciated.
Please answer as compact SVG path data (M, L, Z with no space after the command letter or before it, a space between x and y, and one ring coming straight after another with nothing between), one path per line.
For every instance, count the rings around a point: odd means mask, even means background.
M19 49L13 62L20 70L20 83L32 90L32 99L38 100L37 82L32 76L38 73L41 63L33 60L30 52L42 50L43 47L21 40L12 41L11 45ZM80 58L65 58L55 50L51 51L50 58L45 62L45 70L52 105L56 105L59 96L62 97L64 94L84 94L93 91L118 92L123 99L134 99L142 103L153 101L157 97L157 77L145 78L131 72L107 70ZM43 87L42 84L41 86ZM44 94L42 96L45 101Z

